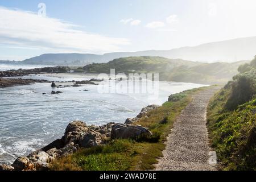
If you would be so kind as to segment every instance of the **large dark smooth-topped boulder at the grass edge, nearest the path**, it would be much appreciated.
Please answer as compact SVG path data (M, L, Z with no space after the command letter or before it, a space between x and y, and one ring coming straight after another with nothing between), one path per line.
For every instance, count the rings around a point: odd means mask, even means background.
M134 139L139 137L142 134L152 136L152 133L150 130L139 125L115 124L112 127L111 138L112 139L116 139L116 138Z

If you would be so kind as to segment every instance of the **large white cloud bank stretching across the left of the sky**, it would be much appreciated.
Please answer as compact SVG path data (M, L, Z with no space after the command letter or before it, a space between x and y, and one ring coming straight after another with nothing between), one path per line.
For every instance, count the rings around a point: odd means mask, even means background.
M130 44L123 38L77 30L60 19L0 6L0 42L6 46L32 47L59 52L112 52Z

